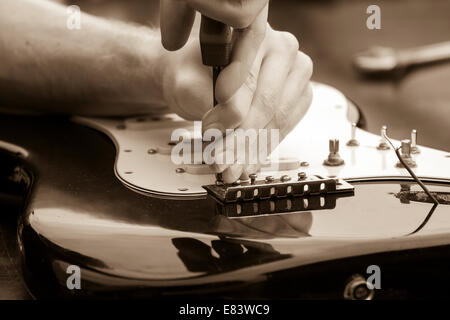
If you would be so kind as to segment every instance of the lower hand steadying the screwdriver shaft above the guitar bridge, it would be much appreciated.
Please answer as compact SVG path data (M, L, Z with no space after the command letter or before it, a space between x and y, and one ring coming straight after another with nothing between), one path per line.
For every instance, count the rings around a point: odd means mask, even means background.
M270 26L244 84L215 108L211 107L211 71L202 65L196 41L191 39L181 50L166 52L163 59L160 69L167 104L183 118L202 119L203 132L211 128L222 134L226 129L280 129L282 140L297 125L312 100L311 59L298 51L298 41L293 35ZM213 169L222 172L224 181L229 183L242 173L255 172L258 166L218 163Z

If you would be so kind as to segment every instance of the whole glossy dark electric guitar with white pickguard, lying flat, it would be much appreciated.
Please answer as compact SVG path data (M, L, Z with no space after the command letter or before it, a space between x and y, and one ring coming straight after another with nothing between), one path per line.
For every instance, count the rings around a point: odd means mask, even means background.
M0 203L3 212L21 208L29 290L44 298L448 296L450 155L413 136L392 140L399 158L362 120L342 93L314 84L311 107L270 165L223 184L205 164L171 161L171 132L193 130L174 115L1 116ZM71 266L80 288L69 285ZM366 285L373 268L381 288Z

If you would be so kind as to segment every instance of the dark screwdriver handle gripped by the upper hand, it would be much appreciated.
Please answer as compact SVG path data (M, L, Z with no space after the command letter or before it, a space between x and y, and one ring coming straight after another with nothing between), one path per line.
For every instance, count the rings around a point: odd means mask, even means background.
M202 15L200 48L205 66L226 67L230 63L233 45L231 27Z

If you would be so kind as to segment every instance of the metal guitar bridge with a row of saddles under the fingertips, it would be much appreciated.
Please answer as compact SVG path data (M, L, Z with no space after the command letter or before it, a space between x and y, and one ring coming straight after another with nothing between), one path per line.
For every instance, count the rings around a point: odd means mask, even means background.
M292 180L285 177L272 178L269 182L267 179L253 180L235 184L212 184L203 188L209 195L223 203L354 192L354 187L341 179L312 176Z

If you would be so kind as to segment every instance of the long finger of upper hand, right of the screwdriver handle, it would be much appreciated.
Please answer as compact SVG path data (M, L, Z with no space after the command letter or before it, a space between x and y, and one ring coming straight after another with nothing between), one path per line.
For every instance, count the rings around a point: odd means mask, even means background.
M234 30L236 41L230 64L221 72L217 79L217 101L225 102L242 86L251 76L255 57L260 50L267 28L266 6L256 20L247 28Z

